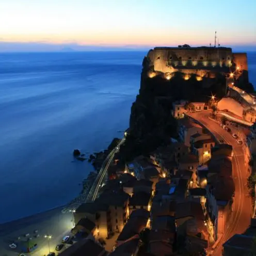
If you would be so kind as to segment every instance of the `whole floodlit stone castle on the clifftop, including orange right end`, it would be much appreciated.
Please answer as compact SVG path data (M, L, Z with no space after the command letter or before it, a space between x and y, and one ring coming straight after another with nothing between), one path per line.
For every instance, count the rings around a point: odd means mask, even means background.
M178 71L185 74L185 79L196 74L201 81L204 77L215 78L216 73L248 70L246 53L233 53L230 47L190 47L187 44L155 47L148 52L147 59L150 67L148 76L163 73L167 79Z

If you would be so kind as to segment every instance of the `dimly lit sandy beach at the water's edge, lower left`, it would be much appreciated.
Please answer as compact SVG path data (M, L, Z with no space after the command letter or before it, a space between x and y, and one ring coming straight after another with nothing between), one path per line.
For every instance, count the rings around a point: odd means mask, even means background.
M61 243L61 238L68 234L73 227L72 213L61 213L63 207L21 218L11 222L0 225L0 256L17 255L20 252L20 241L25 241L24 235L29 233L29 237L38 244L39 248L33 255L44 255L49 253L49 246L47 240L44 238L45 234L52 235L50 241L50 249L54 251L55 246ZM39 237L35 238L34 231L38 230ZM20 240L18 240L20 237ZM12 250L8 247L10 241L15 241L18 248Z

